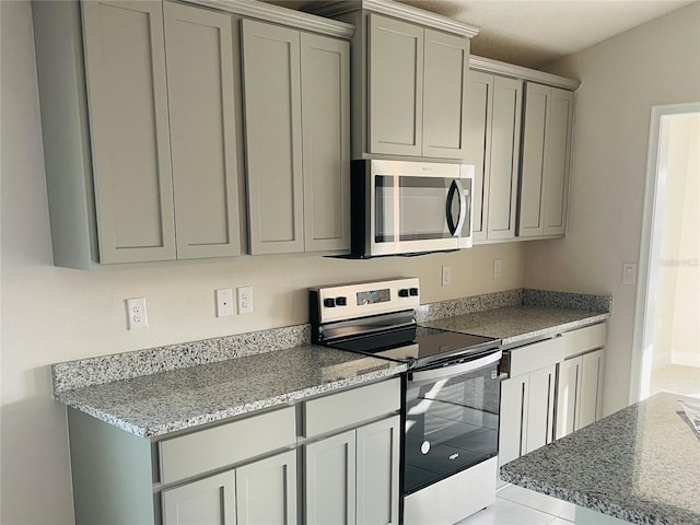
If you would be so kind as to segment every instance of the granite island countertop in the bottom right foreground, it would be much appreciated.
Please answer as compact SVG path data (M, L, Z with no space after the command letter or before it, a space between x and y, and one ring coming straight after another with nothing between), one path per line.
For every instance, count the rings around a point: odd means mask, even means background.
M656 394L504 465L501 478L631 523L700 524L700 434L678 399Z

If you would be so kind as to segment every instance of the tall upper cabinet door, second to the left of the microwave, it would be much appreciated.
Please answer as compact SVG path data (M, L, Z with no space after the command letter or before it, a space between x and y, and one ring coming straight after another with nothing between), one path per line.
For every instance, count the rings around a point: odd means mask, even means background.
M252 254L304 250L299 32L242 21Z

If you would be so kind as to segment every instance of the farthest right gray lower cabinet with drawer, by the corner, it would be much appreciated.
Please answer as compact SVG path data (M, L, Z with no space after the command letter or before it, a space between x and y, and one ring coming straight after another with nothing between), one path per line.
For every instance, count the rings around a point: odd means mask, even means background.
M555 439L600 419L607 324L563 335L565 360L557 365Z

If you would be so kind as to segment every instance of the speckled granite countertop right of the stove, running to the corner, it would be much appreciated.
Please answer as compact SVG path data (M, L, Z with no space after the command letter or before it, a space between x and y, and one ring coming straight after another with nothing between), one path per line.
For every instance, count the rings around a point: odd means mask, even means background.
M607 320L609 313L517 305L422 323L433 328L502 339L503 346Z

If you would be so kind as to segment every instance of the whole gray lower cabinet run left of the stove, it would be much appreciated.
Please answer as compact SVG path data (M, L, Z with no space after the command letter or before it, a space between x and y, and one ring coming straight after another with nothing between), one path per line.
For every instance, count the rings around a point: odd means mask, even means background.
M158 438L68 408L75 524L397 524L399 408L398 377Z

